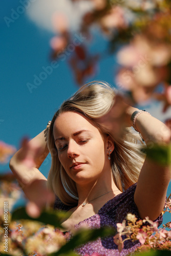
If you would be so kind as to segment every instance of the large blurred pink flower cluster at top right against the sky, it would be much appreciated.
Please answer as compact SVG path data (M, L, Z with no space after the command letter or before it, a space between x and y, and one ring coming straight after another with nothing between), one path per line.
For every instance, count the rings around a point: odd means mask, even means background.
M72 0L74 8L84 1ZM163 111L171 105L170 87L170 24L169 1L89 0L90 5L81 18L81 40L75 44L67 14L54 13L52 26L56 36L51 40L53 58L69 59L76 82L81 85L87 76L95 75L98 60L104 50L92 54L90 45L94 29L109 42L107 53L117 55L118 70L115 83L118 89L130 92L133 102L151 98L163 101ZM77 10L77 9L75 9ZM78 35L77 34L77 35ZM119 46L119 48L118 48ZM162 84L162 91L157 90Z

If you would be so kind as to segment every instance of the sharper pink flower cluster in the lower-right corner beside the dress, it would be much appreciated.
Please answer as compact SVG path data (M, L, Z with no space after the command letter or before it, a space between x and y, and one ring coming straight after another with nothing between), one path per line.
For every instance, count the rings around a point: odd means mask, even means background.
M166 211L170 209L171 203L165 205ZM167 228L167 229L166 229ZM171 222L158 229L158 224L146 217L138 220L135 215L128 214L126 220L117 223L118 233L114 237L114 243L118 245L119 251L124 247L124 241L131 239L139 240L138 251L144 249L169 249L171 250ZM122 236L126 236L123 240Z

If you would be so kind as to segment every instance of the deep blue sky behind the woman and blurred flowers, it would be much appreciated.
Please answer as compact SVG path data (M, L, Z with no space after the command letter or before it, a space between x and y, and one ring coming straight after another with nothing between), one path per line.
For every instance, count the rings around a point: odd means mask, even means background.
M32 93L27 87L28 82L33 83L35 76L39 77L44 71L42 67L52 64L49 41L54 33L45 26L38 26L35 19L31 18L30 13L33 8L31 2L35 1L30 0L30 9L25 8L24 13L17 15L13 22L9 20L15 17L12 16L15 11L22 11L19 9L22 6L21 2L19 0L4 1L0 8L0 140L16 148L19 148L23 137L32 138L44 130L62 101L78 89L67 60L58 61L58 67L54 68L52 73L32 90ZM41 13L37 13L38 15L41 16ZM90 51L96 52L105 49L106 46L106 39L94 32L94 38L91 44L89 43ZM100 60L96 75L85 82L105 80L114 86L114 68L114 56L106 55L106 58ZM162 115L161 104L155 102L144 104L144 108L160 120L170 116L168 113ZM41 172L45 176L48 174L49 167L50 156L41 166ZM7 170L9 170L8 164L0 166L1 172ZM168 194L170 191L169 185Z

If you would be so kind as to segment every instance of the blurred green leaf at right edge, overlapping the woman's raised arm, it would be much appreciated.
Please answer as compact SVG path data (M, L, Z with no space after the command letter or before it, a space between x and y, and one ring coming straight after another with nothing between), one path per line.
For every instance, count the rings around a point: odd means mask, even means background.
M161 165L170 165L171 164L171 144L169 145L158 145L155 144L153 148L145 148L142 150L146 153L146 156L161 164Z

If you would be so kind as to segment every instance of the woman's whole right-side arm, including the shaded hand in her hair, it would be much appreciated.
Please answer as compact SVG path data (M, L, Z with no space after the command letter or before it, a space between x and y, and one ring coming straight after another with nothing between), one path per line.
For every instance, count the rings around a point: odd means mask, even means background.
M105 116L96 120L117 139L118 136L122 136L122 127L133 126L131 116L135 111L138 109L127 105L122 97L116 96L112 109ZM136 127L149 148L153 147L155 143L167 144L170 142L171 136L168 127L145 112L137 117ZM156 220L161 214L171 178L170 172L169 166L161 166L148 158L145 159L134 197L142 219L148 216L151 220Z

